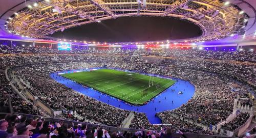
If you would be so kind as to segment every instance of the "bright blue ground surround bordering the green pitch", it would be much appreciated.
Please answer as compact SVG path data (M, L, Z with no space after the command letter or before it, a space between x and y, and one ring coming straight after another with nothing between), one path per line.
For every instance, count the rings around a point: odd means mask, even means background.
M91 98L97 99L104 103L108 103L115 107L120 106L119 108L122 108L122 109L135 111L135 112L137 111L143 112L147 115L148 120L152 124L161 124L161 120L158 117L155 117L156 113L172 110L182 106L183 104L187 103L187 101L191 99L195 93L195 87L189 81L172 78L177 81L173 86L166 89L164 92L156 96L152 101L148 102L147 104L142 106L134 106L134 105L126 104L125 102L117 100L116 98L111 97L109 95L102 94L96 90L93 90L90 88L84 88L82 85L58 75L59 73L71 73L71 72L87 71L87 70L90 70L90 69L60 71L60 72L51 73L50 76L54 80L58 81L60 84L63 84ZM173 92L172 90L175 90L175 92ZM180 91L183 92L183 94L178 94Z

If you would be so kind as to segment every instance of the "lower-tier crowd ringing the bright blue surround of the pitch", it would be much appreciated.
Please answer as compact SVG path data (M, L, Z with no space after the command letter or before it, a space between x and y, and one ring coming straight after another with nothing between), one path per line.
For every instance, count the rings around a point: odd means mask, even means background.
M40 100L47 103L54 109L61 109L62 107L68 109L74 109L78 114L86 117L87 119L93 119L95 121L99 121L104 124L113 125L110 122L103 122L102 120L98 120L98 118L102 118L102 115L92 112L95 107L91 107L93 105L92 101L86 100L86 102L78 102L81 106L77 105L77 101L82 101L80 98L82 96L77 96L77 93L73 90L67 89L65 86L62 86L52 80L49 76L51 72L58 70L67 70L67 69L75 69L82 67L102 67L103 65L108 65L108 67L130 69L137 70L139 72L148 72L152 74L160 74L165 76L173 76L182 78L185 80L190 80L193 82L195 86L197 86L197 92L193 99L191 99L185 106L178 108L176 111L172 112L164 112L159 114L159 116L163 119L166 119L168 123L170 120L174 120L173 117L168 114L176 114L178 116L184 116L184 118L193 118L201 120L202 122L207 122L210 124L217 124L218 122L225 120L232 112L234 105L234 98L237 95L244 95L244 93L234 93L229 88L230 84L236 83L236 81L231 81L232 79L223 81L222 78L224 76L219 76L215 73L206 73L202 71L193 71L193 70L184 70L184 69L175 69L168 67L159 67L154 66L152 64L128 64L128 63L112 63L112 62L90 62L90 63L66 63L66 64L36 64L29 66L17 67L15 72L17 75L23 76L23 79L30 82L30 85L33 87L29 88L30 92L38 96ZM225 78L227 78L226 76ZM227 81L229 83L227 83ZM44 87L45 86L45 87ZM59 88L61 92L58 92L56 88ZM66 92L67 91L67 92ZM242 90L241 90L242 91ZM69 98L66 98L69 97ZM89 97L83 96L86 99L90 99ZM248 100L248 98L247 98ZM97 102L97 101L95 101ZM89 103L89 104L86 104ZM99 102L100 103L100 102ZM78 105L79 105L78 104ZM94 103L95 104L95 103ZM72 105L72 106L71 106ZM104 105L109 106L109 105ZM87 108L88 107L88 108ZM89 111L89 112L88 112ZM113 112L108 111L106 113ZM118 111L116 114L119 114L123 111ZM94 114L91 114L94 113ZM100 113L100 112L99 112ZM103 112L105 113L105 112ZM115 112L113 112L115 113ZM165 115L166 114L166 115ZM115 114L114 114L115 115ZM127 113L125 114L127 116ZM120 119L118 125L120 125ZM136 120L133 120L131 127L137 128L139 126L144 126L145 128L154 128L151 125L144 114L138 115L136 114ZM140 116L140 117L139 117ZM168 118L169 117L169 118ZM108 121L110 121L110 117ZM144 121L146 119L147 121ZM116 122L116 117L112 119ZM182 122L183 120L180 119ZM143 123L141 123L143 122ZM179 123L179 121L176 121ZM184 122L184 128L190 129L193 124L186 124ZM118 126L116 125L116 126ZM180 127L177 125L177 127ZM195 127L196 128L196 127Z

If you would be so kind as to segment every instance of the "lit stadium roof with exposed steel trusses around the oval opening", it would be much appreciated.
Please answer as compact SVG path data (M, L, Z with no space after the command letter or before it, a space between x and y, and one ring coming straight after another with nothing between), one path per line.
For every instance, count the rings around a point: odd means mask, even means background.
M123 16L172 16L200 26L193 42L245 42L255 36L254 0L0 0L0 28L32 38ZM239 33L245 35L238 35ZM10 35L12 36L12 35ZM188 40L188 39L187 39ZM181 40L182 41L182 40Z

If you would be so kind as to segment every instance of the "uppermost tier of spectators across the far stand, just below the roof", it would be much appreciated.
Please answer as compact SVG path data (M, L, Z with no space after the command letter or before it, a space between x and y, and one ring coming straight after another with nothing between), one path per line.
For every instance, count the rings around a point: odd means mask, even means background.
M111 48L97 50L94 47L89 49L73 46L71 51L59 51L54 48L32 47L25 45L0 45L0 53L104 53L104 54L130 54L133 56L158 56L177 58L202 58L217 60L249 61L256 62L255 52L245 50L199 50L193 48L163 48L160 52L143 48Z

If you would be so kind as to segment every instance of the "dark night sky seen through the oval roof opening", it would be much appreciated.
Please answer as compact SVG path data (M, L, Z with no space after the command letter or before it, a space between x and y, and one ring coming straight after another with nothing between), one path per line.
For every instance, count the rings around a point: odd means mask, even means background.
M77 41L136 42L197 37L200 28L170 17L121 17L56 32L52 37Z

